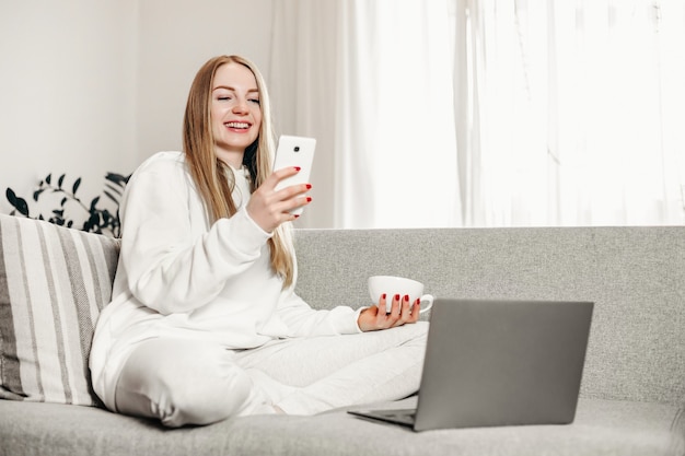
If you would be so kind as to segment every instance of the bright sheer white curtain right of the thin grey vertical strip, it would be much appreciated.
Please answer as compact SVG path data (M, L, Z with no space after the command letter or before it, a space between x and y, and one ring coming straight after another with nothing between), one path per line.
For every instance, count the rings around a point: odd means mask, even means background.
M684 3L465 4L467 224L685 222Z

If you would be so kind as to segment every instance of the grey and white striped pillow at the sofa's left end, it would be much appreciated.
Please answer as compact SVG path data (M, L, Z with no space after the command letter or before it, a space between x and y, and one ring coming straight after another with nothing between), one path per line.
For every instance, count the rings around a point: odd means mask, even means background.
M0 398L94 406L88 356L119 244L0 214Z

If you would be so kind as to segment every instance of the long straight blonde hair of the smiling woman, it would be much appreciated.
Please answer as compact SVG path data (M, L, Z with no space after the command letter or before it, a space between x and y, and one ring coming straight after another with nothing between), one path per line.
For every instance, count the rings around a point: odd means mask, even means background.
M274 156L274 131L269 96L262 73L249 60L240 56L219 56L208 60L195 75L186 112L183 119L183 149L190 168L190 175L205 202L210 223L230 218L236 212L231 197L235 185L233 173L214 153L214 138L211 128L211 91L214 74L222 65L239 63L255 75L259 91L262 126L259 136L243 156L243 164L249 171L252 191L271 174ZM227 178L228 176L228 178ZM283 288L294 281L294 259L291 250L289 223L280 225L269 238L271 268L283 279Z

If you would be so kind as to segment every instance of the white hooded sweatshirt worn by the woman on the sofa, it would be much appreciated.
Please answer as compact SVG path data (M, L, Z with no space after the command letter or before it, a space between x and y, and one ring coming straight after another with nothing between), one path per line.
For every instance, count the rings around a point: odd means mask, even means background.
M246 172L233 169L235 215L209 225L185 154L160 152L129 180L120 207L121 252L95 328L93 388L115 410L120 370L142 340L214 341L227 349L275 338L359 332L359 312L314 311L274 273L264 232L247 214Z

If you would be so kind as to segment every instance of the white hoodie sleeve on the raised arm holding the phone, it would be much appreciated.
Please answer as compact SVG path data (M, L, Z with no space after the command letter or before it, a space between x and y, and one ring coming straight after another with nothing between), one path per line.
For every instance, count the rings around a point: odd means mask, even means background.
M256 261L270 234L245 209L199 226L207 218L185 163L179 155L162 159L148 160L127 185L120 267L144 305L162 314L191 312Z

